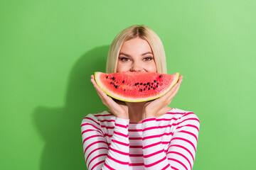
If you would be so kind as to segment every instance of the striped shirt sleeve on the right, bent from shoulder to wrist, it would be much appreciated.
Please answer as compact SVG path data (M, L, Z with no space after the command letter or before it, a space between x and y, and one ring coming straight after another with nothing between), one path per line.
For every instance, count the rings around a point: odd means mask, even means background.
M142 121L142 144L145 169L191 170L196 155L199 120L194 113L186 113L172 124L169 149L164 152L156 118Z

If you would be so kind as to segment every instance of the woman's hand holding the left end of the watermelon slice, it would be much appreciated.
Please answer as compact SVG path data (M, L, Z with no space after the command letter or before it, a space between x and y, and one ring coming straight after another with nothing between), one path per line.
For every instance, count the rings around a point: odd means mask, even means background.
M95 77L93 75L91 75L91 81L93 86L95 86L97 94L102 99L102 103L110 109L112 114L117 118L129 119L128 106L126 106L122 101L117 103L110 96L107 96L107 94L105 94L105 92L102 91L99 86L97 86Z

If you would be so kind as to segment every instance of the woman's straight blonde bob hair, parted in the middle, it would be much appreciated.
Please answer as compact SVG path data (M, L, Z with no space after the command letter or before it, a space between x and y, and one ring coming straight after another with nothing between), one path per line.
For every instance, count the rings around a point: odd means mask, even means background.
M125 28L114 38L110 50L107 55L106 73L117 72L117 61L119 58L119 52L124 42L133 38L142 38L149 42L151 50L154 55L154 62L156 63L156 69L158 73L167 74L166 68L166 55L164 52L164 46L156 33L151 28L139 25L129 26Z

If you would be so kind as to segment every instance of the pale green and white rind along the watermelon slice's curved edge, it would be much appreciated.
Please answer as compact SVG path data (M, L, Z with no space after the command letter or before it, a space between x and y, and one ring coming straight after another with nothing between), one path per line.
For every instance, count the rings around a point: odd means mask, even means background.
M102 89L102 91L105 92L105 94L107 94L108 96L115 98L119 101L127 101L127 102L144 102L144 101L151 101L154 100L156 98L160 98L161 96L164 96L164 94L166 94L168 91L171 90L171 88L178 82L178 77L180 76L179 72L176 72L176 77L174 77L174 80L172 81L172 83L170 84L170 86L168 88L166 88L165 91L163 91L161 94L156 95L156 96L151 96L149 98L126 98L123 96L119 96L117 94L112 93L112 91L109 91L106 86L104 86L102 84L102 82L100 81L99 77L100 74L103 74L102 72L95 72L95 81L97 86L100 87L100 89Z

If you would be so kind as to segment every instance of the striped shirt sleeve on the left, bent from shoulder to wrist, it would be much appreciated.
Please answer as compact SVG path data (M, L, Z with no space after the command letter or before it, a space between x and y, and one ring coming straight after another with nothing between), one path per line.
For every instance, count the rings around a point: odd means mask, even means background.
M128 119L116 118L110 147L102 125L92 114L82 120L82 145L88 170L129 169Z

